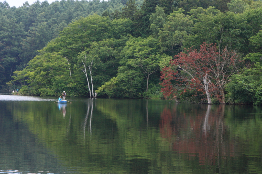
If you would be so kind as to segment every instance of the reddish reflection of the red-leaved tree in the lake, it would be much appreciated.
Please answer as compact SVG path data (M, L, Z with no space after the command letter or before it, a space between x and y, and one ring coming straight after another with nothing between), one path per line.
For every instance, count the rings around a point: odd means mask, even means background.
M211 112L211 107L215 107L215 111ZM181 112L165 108L161 113L160 133L175 152L187 154L189 160L199 158L200 164L210 165L234 153L233 142L227 141L227 127L223 122L225 105L208 105L206 114L203 110L190 114Z

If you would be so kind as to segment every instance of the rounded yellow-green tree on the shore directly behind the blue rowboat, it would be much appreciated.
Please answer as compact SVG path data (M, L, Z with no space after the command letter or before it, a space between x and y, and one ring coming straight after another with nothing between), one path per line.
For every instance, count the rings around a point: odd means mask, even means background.
M23 84L20 90L21 93L25 92L23 94L29 92L31 95L40 96L58 95L62 90L73 91L70 88L72 80L67 68L68 63L61 55L40 51L40 55L29 61L29 66L14 73L14 80L22 84L26 81L28 84Z

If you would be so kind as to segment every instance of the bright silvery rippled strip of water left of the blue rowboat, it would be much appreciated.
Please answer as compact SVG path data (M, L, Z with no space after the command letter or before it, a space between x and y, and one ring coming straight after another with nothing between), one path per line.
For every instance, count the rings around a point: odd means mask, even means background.
M0 95L0 101L56 101L56 99L39 96Z

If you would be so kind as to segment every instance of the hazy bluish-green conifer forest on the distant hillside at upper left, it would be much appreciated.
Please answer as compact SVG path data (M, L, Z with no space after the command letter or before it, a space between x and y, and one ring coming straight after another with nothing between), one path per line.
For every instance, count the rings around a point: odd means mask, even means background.
M0 2L0 83L11 80L13 72L22 70L29 60L56 38L64 27L81 17L106 10L113 13L124 8L126 1L73 1L62 0L49 4L36 1L22 7L10 7ZM136 1L140 6L142 1ZM2 86L3 87L3 86Z

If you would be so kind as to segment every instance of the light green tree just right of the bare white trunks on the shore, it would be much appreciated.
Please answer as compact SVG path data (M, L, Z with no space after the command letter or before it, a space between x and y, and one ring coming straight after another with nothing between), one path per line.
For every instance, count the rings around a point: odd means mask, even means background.
M130 37L126 46L118 55L120 67L116 77L98 88L109 97L137 98L148 91L150 77L159 70L159 64L165 55L160 55L157 39L148 37ZM159 82L159 76L157 77Z

